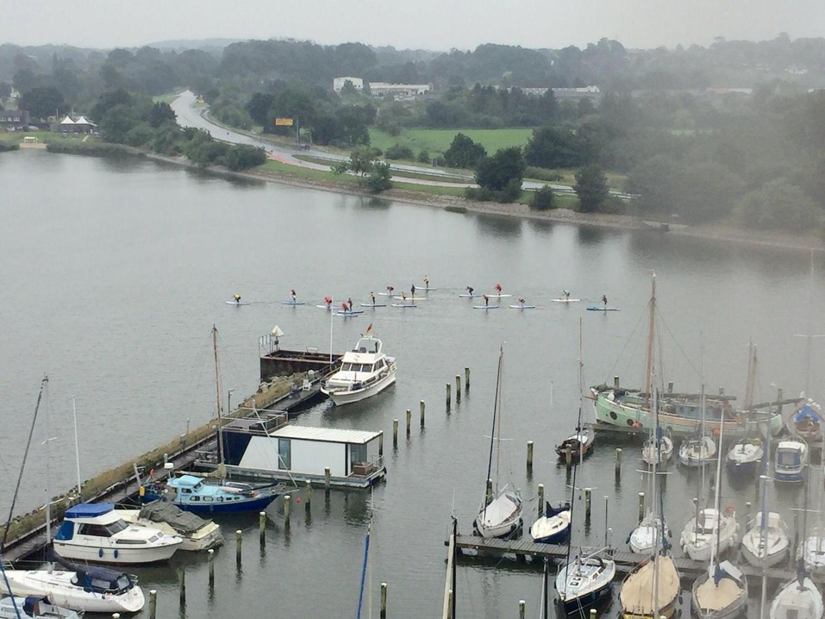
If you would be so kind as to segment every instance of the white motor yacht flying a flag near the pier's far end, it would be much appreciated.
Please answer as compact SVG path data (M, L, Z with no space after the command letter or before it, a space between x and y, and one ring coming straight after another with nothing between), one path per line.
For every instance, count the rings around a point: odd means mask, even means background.
M379 338L367 334L344 353L341 368L326 376L321 391L333 404L352 404L379 394L395 382L395 357L387 357Z

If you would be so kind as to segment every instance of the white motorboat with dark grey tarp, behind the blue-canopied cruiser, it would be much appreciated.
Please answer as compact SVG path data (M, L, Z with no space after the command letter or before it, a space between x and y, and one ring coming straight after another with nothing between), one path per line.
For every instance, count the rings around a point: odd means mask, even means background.
M216 522L185 512L167 501L147 503L140 509L115 509L115 512L129 524L181 537L180 550L208 550L224 543Z

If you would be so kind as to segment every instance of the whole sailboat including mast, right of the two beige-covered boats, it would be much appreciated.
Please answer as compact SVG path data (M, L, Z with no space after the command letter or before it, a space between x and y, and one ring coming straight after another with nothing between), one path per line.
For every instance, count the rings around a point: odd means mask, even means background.
M724 427L719 431L719 445L722 445ZM691 607L699 619L728 619L736 617L747 604L747 578L736 565L730 561L719 562L722 553L723 516L719 509L720 489L722 486L722 461L716 462L716 496L714 499L715 542L710 544L710 562L708 569L702 572L693 583L691 590ZM707 512L708 510L705 510ZM733 540L736 538L736 518L733 521ZM684 534L683 534L684 535ZM698 542L698 539L695 540ZM696 546L695 546L696 547Z

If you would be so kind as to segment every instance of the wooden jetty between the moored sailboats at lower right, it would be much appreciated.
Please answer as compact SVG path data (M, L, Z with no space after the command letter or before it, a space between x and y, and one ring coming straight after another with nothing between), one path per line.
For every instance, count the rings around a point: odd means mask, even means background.
M446 540L445 546L450 545L450 540ZM474 535L459 535L455 537L455 547L466 556L493 556L502 557L511 555L516 560L524 560L526 557L535 559L544 559L545 557L553 561L567 560L568 548L567 546L556 544L536 544L529 538L522 537L519 540L502 540L497 538L486 538ZM582 553L587 555L590 552L598 550L597 548L582 548ZM472 555L469 553L473 553ZM571 558L573 555L571 555ZM634 569L643 560L646 560L648 555L634 555L632 552L614 551L613 560L616 564L616 571L621 574L627 574ZM701 572L708 569L707 563L704 561L695 561L687 557L674 557L673 562L676 564L676 569L683 578L694 577ZM761 579L762 570L755 568L744 561L738 564L738 568L742 570L742 574L752 578ZM768 568L766 575L769 579L774 579L782 582L787 582L793 579L796 573L790 569ZM825 582L825 574L814 574L812 578L819 583Z

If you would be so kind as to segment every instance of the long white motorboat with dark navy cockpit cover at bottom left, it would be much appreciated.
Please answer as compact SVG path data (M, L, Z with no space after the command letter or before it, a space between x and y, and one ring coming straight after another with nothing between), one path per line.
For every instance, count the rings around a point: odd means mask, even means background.
M137 578L101 567L75 566L74 571L7 569L16 596L49 598L56 606L86 612L138 612L144 592Z

